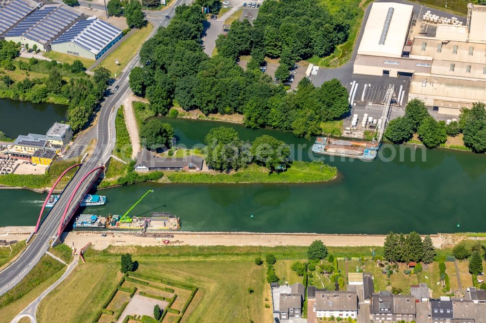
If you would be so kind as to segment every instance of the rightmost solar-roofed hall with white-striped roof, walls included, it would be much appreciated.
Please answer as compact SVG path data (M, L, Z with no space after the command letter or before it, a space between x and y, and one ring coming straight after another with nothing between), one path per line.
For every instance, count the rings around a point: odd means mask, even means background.
M89 17L76 22L52 42L52 50L97 60L123 37L123 32L109 23Z

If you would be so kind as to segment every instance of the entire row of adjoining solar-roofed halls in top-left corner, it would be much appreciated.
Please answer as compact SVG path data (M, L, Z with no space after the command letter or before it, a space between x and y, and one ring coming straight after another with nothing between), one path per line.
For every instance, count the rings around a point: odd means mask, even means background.
M123 37L123 32L95 16L55 2L13 0L0 4L0 39L42 51L59 51L93 60Z

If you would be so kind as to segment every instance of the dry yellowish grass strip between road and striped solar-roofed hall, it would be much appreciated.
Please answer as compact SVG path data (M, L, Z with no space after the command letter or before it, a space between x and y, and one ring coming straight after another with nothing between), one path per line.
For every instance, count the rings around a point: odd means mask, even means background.
M142 46L142 43L148 38L153 29L154 25L149 23L146 27L135 30L135 32L128 36L127 39L123 40L118 48L106 56L103 62L98 66L110 70L112 76L115 76L115 73L119 75L128 62L135 56L140 46ZM117 66L115 60L118 60L120 65Z

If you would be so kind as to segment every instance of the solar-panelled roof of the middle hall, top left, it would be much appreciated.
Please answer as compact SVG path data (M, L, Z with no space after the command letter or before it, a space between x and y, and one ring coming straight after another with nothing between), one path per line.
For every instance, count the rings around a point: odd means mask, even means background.
M5 37L24 36L45 44L81 16L81 12L75 12L66 7L65 5L45 5L7 32Z

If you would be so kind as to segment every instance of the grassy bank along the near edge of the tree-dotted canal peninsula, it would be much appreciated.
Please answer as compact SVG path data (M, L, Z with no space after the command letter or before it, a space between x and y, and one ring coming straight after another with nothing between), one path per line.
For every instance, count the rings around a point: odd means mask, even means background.
M337 168L323 162L294 161L284 172L270 173L265 167L251 164L245 169L225 173L174 172L166 175L172 183L316 183L337 176Z

